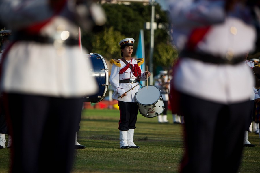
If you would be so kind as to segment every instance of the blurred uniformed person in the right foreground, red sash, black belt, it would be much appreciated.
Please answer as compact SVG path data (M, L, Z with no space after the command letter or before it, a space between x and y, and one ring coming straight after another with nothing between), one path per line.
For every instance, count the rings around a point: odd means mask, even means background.
M170 92L184 116L180 172L237 172L254 86L244 53L255 48L250 8L238 0L168 1L180 51ZM177 100L170 103L178 104Z

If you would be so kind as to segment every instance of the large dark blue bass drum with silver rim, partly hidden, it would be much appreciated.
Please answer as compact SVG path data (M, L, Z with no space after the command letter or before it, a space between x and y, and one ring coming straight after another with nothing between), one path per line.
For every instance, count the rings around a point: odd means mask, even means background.
M86 58L92 62L92 69L90 69L90 75L96 78L98 88L96 88L96 94L84 97L84 102L97 103L105 98L108 88L108 68L107 63L100 54L90 53L86 55Z

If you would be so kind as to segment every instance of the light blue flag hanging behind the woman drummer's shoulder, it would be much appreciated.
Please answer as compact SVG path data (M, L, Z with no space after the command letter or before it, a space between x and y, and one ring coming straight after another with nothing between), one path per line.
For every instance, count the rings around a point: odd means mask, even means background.
M142 30L142 29L140 30L135 56L136 56L136 58L144 59L144 63L141 65L141 69L143 72L146 71L145 54L144 54L144 30ZM145 81L141 81L141 84L144 86L146 83L145 83Z

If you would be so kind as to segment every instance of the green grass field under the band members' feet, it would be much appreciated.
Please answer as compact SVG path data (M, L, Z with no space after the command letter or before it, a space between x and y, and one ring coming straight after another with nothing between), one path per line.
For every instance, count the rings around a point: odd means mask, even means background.
M172 123L157 123L157 117L146 118L138 114L134 142L140 149L119 149L118 110L83 110L78 142L85 150L75 151L73 173L84 172L144 172L175 173L184 151L183 129ZM249 133L256 147L244 148L239 172L260 172L259 135ZM0 172L7 173L10 150L0 150ZM223 170L224 172L224 170Z

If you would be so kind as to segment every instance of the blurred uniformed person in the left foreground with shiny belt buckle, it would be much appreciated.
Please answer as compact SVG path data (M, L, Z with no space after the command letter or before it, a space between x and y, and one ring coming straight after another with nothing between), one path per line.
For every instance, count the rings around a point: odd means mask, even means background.
M11 172L70 172L83 97L94 94L91 62L79 48L90 29L90 1L3 0L1 22L14 40L5 50L1 91L13 139ZM78 8L86 9L80 14ZM88 28L89 27L89 28Z

